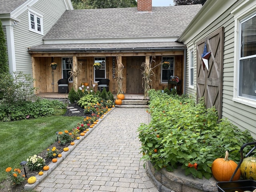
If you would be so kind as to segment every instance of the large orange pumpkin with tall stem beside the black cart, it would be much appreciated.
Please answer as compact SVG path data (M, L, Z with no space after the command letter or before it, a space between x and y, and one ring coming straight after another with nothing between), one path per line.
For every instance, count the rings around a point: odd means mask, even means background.
M228 151L226 151L225 158L218 158L212 163L212 175L218 181L229 181L236 167L236 162L228 160ZM232 181L239 180L240 175L240 169L238 169Z

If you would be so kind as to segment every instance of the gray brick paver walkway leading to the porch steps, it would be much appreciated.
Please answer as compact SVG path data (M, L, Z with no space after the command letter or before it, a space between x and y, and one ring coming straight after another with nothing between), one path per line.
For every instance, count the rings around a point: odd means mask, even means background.
M142 108L115 108L36 188L40 192L158 192L140 161Z

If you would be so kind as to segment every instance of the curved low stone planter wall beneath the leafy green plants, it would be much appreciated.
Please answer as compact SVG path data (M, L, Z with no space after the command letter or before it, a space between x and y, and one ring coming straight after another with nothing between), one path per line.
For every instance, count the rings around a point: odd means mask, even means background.
M181 168L168 172L165 168L156 170L151 162L147 163L146 172L159 192L218 192L217 180L186 176Z

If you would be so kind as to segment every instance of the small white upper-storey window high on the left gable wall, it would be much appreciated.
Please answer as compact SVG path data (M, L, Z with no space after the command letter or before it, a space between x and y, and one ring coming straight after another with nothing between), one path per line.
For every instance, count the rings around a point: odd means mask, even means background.
M28 9L29 30L43 35L43 15Z

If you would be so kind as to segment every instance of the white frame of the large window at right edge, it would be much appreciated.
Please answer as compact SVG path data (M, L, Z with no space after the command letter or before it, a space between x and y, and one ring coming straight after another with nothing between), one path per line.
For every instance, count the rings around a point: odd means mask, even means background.
M233 98L234 102L248 105L256 108L256 100L239 96L239 63L240 63L240 36L241 23L250 18L256 13L256 4L254 0L244 0L235 6L231 11L234 15L234 87Z

